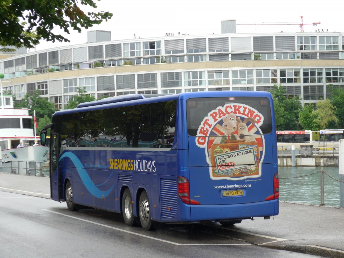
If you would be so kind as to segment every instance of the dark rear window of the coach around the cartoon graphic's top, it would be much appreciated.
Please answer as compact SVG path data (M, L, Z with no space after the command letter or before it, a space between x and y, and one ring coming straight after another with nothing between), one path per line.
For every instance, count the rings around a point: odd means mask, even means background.
M244 114L245 116L255 116L260 114L263 122L260 125L262 133L267 134L272 131L271 107L268 98L265 97L210 97L191 98L186 102L187 133L196 136L197 130L205 117L215 117L218 108L226 110L226 114L218 114L218 117L226 117L230 113ZM258 119L258 118L257 118Z

